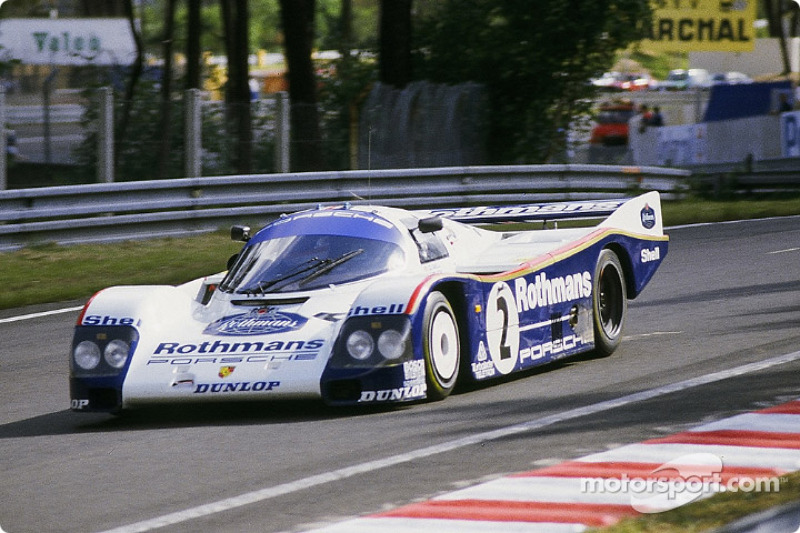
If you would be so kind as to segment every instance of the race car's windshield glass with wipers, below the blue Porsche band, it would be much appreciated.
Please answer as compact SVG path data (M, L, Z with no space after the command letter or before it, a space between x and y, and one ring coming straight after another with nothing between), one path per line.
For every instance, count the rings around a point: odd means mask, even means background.
M395 243L346 235L287 235L247 246L220 290L267 294L349 283L405 264Z

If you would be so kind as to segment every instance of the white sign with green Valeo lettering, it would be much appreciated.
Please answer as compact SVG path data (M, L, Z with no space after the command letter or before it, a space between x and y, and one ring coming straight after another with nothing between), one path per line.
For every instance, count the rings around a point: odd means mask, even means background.
M136 43L126 19L3 19L0 52L28 65L130 65Z

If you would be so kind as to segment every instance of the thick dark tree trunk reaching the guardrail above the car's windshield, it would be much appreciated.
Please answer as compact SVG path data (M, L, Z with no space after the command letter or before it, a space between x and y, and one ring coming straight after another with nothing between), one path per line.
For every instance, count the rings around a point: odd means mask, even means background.
M311 49L314 0L280 0L289 74L292 170L322 170L317 82Z

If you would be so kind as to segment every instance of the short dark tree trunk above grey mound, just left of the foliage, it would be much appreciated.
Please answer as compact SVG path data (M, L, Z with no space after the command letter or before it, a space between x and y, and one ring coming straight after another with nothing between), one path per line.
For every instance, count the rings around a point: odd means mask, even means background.
M381 0L380 78L405 87L411 81L412 0Z

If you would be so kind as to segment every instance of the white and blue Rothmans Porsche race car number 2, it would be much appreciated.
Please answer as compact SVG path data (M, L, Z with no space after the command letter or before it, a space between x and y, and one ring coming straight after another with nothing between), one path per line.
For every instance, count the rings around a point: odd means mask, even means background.
M558 228L585 217L596 220ZM71 409L442 400L459 383L610 355L628 299L669 240L657 192L418 211L329 206L231 235L244 245L226 272L111 287L86 303Z

